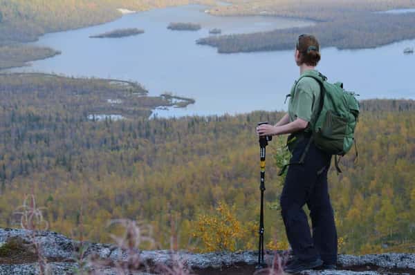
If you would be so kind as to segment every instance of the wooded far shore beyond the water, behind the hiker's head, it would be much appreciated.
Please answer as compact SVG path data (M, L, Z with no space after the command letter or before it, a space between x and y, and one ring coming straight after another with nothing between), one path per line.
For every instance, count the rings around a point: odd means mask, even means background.
M308 19L315 22L304 28L269 32L205 37L198 44L218 48L219 53L266 50L291 50L298 35L316 35L322 47L339 49L375 48L415 38L413 13L385 14L382 10L415 8L415 1L232 1L233 6L215 7L212 15L263 15Z

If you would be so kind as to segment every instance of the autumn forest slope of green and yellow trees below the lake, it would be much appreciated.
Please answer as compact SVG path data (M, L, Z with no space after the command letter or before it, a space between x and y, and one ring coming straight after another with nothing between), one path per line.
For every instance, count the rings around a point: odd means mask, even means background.
M210 251L223 246L201 240L205 225L222 215L224 225L231 220L236 230L228 248L255 249L255 126L277 122L282 112L150 120L132 113L123 120L91 120L95 108L102 112L102 98L123 100L131 87L117 84L124 89L118 91L101 80L77 85L68 78L49 83L48 77L31 77L1 76L0 227L17 227L14 213L25 194L33 193L50 230L75 238L82 230L86 240L111 242L107 221L130 218L151 225L158 248L171 247L173 236L179 249ZM140 104L145 103L133 101L121 111L128 114ZM361 106L359 156L352 152L342 159L342 174L329 173L340 252L413 253L415 102L370 100ZM275 138L268 146L268 248L287 246L277 176L284 142Z

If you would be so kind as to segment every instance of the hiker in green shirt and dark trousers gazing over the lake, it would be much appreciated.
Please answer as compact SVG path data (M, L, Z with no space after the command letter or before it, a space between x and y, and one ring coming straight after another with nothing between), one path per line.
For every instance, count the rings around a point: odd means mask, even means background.
M300 35L295 47L295 62L299 73L318 73L320 44L313 35ZM257 127L257 134L288 137L292 153L284 189L280 198L282 218L288 241L293 249L293 260L284 268L288 273L306 269L334 269L337 261L338 238L333 208L329 198L327 171L331 154L318 149L308 129L318 113L320 84L312 77L302 77L291 89L288 113L275 124ZM303 161L301 161L303 160ZM313 228L311 235L307 216L302 207L307 205Z

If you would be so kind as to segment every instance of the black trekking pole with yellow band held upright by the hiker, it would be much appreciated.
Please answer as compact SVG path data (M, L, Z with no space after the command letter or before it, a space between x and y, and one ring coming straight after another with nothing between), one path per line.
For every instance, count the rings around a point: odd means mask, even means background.
M259 122L259 125L268 124L268 122ZM259 245L258 245L258 265L257 269L266 267L264 262L264 191L265 191L265 153L268 142L273 140L272 135L259 137L259 157L261 167L261 182L259 190L261 190L261 211L259 214Z

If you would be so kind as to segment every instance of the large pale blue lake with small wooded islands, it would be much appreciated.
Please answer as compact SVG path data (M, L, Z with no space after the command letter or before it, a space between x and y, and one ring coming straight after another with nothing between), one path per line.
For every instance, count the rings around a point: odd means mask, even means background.
M211 28L224 34L308 26L312 22L278 17L213 17L203 6L164 8L124 15L100 26L56 32L35 45L62 55L33 62L15 71L40 71L75 77L133 80L150 95L171 92L192 97L185 109L156 110L158 116L221 115L255 110L282 110L285 95L298 77L293 50L223 55L196 45ZM171 22L200 23L196 32L167 30ZM121 39L90 39L116 28L139 28L142 35ZM293 41L294 47L295 41ZM324 45L323 45L324 46ZM329 80L369 98L415 98L415 55L403 55L415 40L365 50L323 48L318 67Z

